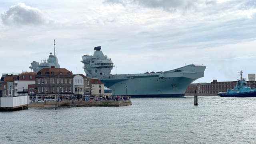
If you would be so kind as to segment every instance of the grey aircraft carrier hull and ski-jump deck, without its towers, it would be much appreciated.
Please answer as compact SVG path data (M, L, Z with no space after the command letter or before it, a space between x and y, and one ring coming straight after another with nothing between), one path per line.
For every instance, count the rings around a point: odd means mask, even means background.
M133 98L182 97L190 83L203 77L204 70L205 66L188 65L169 72L111 75L101 81L115 95L127 94Z

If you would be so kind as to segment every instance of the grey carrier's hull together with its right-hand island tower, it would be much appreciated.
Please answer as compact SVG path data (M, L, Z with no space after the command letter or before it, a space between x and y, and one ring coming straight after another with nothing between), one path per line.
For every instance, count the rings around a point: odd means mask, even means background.
M82 56L84 71L89 78L99 78L115 95L132 97L184 96L190 83L204 76L206 66L190 64L166 72L144 74L110 74L114 64L104 55L101 47L94 54Z

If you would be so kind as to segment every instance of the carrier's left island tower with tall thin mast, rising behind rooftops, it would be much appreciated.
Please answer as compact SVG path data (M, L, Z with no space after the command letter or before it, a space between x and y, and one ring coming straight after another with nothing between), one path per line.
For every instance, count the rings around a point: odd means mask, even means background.
M60 68L60 64L58 64L58 58L56 57L56 52L55 52L55 46L56 46L56 41L54 40L54 55L50 52L49 58L47 60L41 61L40 64L39 62L33 61L31 62L31 66L29 66L30 69L33 70L33 72L38 72L39 70L43 68L50 68L51 66L54 66L55 68Z

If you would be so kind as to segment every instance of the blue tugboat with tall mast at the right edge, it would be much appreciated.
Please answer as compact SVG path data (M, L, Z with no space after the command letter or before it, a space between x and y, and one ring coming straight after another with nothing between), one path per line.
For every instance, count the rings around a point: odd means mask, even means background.
M220 92L221 97L256 97L256 89L247 87L246 80L242 78L242 70L240 71L240 80L237 81L236 86L227 92Z

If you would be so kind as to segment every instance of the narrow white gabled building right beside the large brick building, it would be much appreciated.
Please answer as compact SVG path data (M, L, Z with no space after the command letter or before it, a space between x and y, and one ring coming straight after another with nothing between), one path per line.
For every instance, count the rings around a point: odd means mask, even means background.
M84 95L84 77L80 74L75 74L73 76L73 94Z

